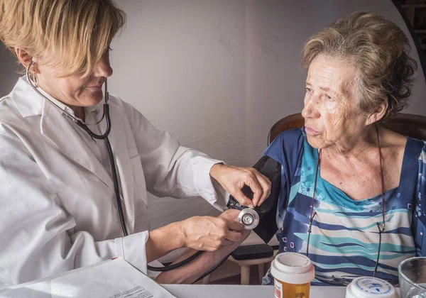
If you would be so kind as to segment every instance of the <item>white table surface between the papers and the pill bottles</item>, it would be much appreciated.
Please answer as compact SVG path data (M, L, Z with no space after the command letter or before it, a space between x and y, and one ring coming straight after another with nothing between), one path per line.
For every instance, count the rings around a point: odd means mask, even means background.
M162 285L178 298L273 298L273 286L258 285ZM311 287L313 298L344 298L346 287Z

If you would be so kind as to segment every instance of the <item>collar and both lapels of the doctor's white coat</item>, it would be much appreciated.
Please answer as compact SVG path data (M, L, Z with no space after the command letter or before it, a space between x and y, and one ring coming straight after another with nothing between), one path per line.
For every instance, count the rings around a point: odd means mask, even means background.
M114 192L114 182L111 177L94 156L86 142L82 141L77 133L76 129L82 128L72 127L58 109L55 109L52 104L32 89L26 77L21 77L18 80L18 84L11 92L11 97L24 118L41 115L40 132L42 135L50 139L67 158L92 172ZM129 233L133 233L135 222L133 188L135 187L135 181L131 158L135 157L129 155L128 148L134 148L135 145L134 143L132 144L133 138L126 137L126 133L131 136L132 132L131 125L124 115L124 109L117 106L118 104L114 101L110 101L109 105L112 123L109 140L120 176L120 189L124 199L126 223L128 224ZM101 131L105 131L105 126L105 121L102 121ZM143 179L143 177L139 178Z

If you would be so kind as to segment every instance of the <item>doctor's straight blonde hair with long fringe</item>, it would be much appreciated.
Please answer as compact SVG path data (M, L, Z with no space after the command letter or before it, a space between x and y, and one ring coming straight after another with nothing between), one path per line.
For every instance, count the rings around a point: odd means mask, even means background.
M61 67L63 77L90 75L125 23L112 0L0 0L0 40L14 55L22 48Z

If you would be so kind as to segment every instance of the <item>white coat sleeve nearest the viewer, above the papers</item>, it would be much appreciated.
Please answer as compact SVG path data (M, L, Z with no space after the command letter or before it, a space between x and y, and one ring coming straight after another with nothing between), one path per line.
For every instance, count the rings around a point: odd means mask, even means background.
M148 232L106 241L72 233L75 219L50 184L21 140L0 133L0 288L115 257L146 272Z

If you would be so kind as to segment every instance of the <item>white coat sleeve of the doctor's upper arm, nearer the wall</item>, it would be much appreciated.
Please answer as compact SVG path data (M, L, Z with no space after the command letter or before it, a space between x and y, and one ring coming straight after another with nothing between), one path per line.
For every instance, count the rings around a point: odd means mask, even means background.
M133 106L124 104L141 156L148 192L158 197L201 196L215 208L226 208L226 192L212 182L210 169L221 160L180 145L165 131L158 131Z

